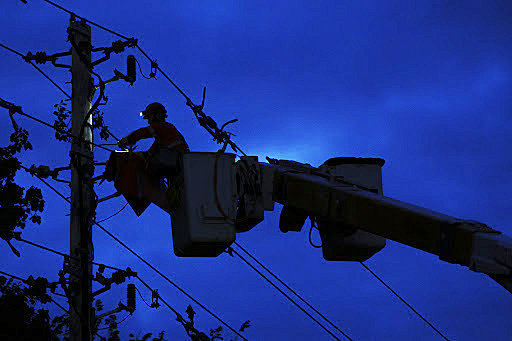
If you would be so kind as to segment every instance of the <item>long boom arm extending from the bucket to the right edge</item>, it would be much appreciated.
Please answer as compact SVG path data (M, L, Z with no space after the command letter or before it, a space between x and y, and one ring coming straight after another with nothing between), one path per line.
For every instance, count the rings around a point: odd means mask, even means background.
M345 160L334 167L326 162L314 168L294 161L268 159L271 162L268 164L257 163L255 157L242 157L237 163L239 168L245 164L244 168L258 173L259 178L251 181L256 181L260 189L259 193L252 195L252 201L248 200L250 191L239 193L246 198L242 211L252 210L253 222L258 223L263 218L263 208L270 206L271 194L273 202L284 205L283 211L288 209L288 213L295 214L298 222L296 231L308 216L322 222L319 230L323 244L333 245L329 238L336 238L339 240L334 241L334 245L350 250L347 243L350 243L351 234L358 230L366 231L368 233L363 239L367 238L369 247L378 236L391 239L437 255L443 261L487 274L512 293L512 238L480 222L457 219L383 196L380 166L384 160L337 159ZM379 164L376 160L382 162ZM361 176L364 173L367 176ZM250 188L251 181L246 181L246 189ZM282 213L281 220L285 218ZM331 229L336 226L338 233L326 234L329 226ZM248 230L247 225L243 226L242 231L245 230ZM384 245L381 244L364 259ZM349 258L344 260L352 260Z

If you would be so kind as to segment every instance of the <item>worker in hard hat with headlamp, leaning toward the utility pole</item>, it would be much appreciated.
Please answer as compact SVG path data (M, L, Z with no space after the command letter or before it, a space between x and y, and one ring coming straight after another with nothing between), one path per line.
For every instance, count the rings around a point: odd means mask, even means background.
M148 126L123 137L119 140L118 146L124 149L141 139L155 139L147 151L136 154L144 159L146 172L154 183L161 189L162 185L167 185L167 189L152 193L150 200L165 211L171 212L178 205L183 183L183 153L190 150L178 129L165 121L167 110L162 104L151 103L140 115L148 121Z

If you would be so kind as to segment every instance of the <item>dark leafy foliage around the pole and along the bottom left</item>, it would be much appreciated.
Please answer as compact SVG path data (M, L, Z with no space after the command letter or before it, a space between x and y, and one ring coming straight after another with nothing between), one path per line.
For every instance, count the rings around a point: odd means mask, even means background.
M56 108L53 112L56 116L55 137L60 141L71 142L72 135L69 127L71 111L66 109L64 101L54 107ZM92 111L92 115L92 127L100 129L101 139L107 140L109 133L103 120L103 113L95 109ZM25 191L25 188L14 181L17 171L22 168L16 154L32 150L32 145L28 141L28 132L19 128L13 119L12 122L14 132L10 136L11 144L7 147L0 147L0 237L7 240L8 243L12 234L2 232L13 231L16 227L25 228L27 219L40 224L41 217L37 212L43 212L45 204L39 188L31 186ZM52 301L51 296L47 294L49 287L54 292L56 283L50 284L47 279L41 277L35 280L30 277L25 283L20 284L0 276L0 335L2 340L69 341L69 313L66 312L52 319L48 309L36 310L37 305ZM95 307L98 312L104 308L100 300L95 300ZM178 315L177 320L184 326L192 341L224 340L221 326L210 329L210 333L207 335L195 328L196 313L192 306L187 307L186 313L188 320L181 315ZM106 327L99 328L102 323ZM104 320L97 319L92 327L94 339L120 341L118 325L117 317L114 314ZM248 327L250 327L250 323L246 321L239 331L243 332ZM100 336L98 331L101 330L107 330L108 335ZM158 337L150 339L152 335L152 333L146 333L136 337L134 334L129 334L130 341L166 341L164 331L161 331Z

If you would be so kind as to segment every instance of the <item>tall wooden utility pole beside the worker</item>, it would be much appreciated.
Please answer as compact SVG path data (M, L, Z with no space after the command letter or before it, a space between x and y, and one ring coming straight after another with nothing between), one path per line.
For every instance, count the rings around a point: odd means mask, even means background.
M72 127L71 142L71 222L70 222L70 340L91 341L92 321L92 219L95 211L95 193L91 179L94 176L91 108L93 82L91 62L91 27L85 21L71 16L68 34L72 42ZM84 63L85 62L85 63ZM84 128L84 120L87 123ZM81 140L78 137L81 135ZM80 259L77 261L76 259Z

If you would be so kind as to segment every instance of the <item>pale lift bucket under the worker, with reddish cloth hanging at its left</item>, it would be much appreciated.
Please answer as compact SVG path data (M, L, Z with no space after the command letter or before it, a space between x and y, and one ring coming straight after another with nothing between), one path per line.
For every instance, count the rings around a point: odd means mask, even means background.
M231 153L184 152L180 160L183 181L178 203L172 209L161 202L167 195L163 180L150 175L151 169L135 153L113 152L105 178L114 181L138 216L151 203L171 214L175 255L216 257L235 241L234 161L235 154Z

